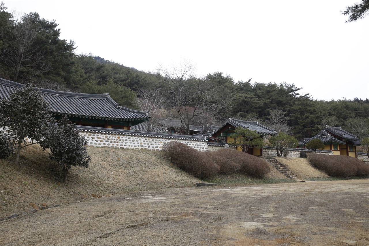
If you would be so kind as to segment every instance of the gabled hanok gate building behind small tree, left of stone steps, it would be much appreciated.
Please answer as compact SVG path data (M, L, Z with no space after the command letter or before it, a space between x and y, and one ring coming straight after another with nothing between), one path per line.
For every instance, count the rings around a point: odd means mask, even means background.
M218 140L221 140L227 144L231 143L233 139L231 139L230 135L234 133L236 127L242 127L244 129L256 131L256 133L260 134L260 137L277 135L277 132L274 129L266 127L257 121L245 121L229 118L228 121L223 124L223 126L214 131L209 141L219 142ZM240 147L237 147L236 149L242 151L242 148ZM261 148L248 148L247 153L254 156L262 156L263 150Z

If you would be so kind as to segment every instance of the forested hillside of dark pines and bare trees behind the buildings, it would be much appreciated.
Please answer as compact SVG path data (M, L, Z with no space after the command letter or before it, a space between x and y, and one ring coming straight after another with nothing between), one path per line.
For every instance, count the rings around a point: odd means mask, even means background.
M57 27L37 13L15 19L1 4L0 77L41 88L110 93L122 106L149 110L153 118L181 115L189 124L221 124L233 117L262 121L297 139L314 136L326 124L369 136L369 99L314 100L300 95L294 84L234 81L220 71L199 78L186 61L177 68L142 72L76 54L76 44L61 40Z

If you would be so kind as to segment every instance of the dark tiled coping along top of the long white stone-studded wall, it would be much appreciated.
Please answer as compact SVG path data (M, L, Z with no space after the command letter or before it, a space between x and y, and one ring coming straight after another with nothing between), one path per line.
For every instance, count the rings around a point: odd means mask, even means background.
M187 136L180 134L170 134L170 133L154 133L149 131L134 131L134 130L123 130L123 129L111 129L111 128L103 128L103 127L94 127L94 126L75 126L78 131L90 131L97 133L112 133L112 134L125 134L131 136L144 136L144 137L162 137L165 139L180 139L180 140L197 140L197 141L206 141L204 137L197 136Z

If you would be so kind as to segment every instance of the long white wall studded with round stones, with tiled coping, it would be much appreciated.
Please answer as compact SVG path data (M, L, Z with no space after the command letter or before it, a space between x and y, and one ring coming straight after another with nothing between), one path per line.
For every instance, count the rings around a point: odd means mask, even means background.
M92 147L161 150L164 144L178 141L199 151L208 149L203 137L85 126L76 128L81 136L86 137L88 146Z

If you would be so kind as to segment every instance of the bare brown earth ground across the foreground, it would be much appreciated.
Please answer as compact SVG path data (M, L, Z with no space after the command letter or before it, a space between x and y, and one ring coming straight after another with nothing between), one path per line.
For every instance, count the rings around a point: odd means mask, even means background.
M140 191L0 222L1 245L369 245L369 180Z

